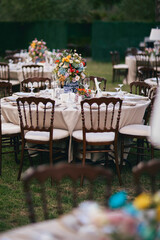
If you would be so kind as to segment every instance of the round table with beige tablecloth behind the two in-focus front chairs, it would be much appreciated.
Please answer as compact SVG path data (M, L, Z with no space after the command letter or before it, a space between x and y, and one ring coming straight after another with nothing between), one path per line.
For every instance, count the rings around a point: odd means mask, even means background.
M23 93L20 92L20 93L17 93L17 95L22 96ZM16 97L18 97L17 95L15 94L14 97L12 98L16 99ZM51 95L49 95L48 97L51 97ZM2 115L6 122L19 124L19 115L18 115L16 100L10 101L10 99L13 100L12 98L8 97L5 99L2 99L1 101ZM150 100L148 100L146 97L133 95L133 94L124 95L123 99L124 101L123 101L122 110L121 110L119 128L129 124L142 124L143 116L147 106L150 103ZM68 130L70 136L72 136L72 132L74 130L82 129L80 105L75 103L72 103L72 104L61 103L59 100L57 99L55 100L56 100L56 105L55 105L55 115L54 115L54 127ZM47 114L50 114L50 109L47 109L46 112ZM86 109L86 114L88 114L89 116L89 109ZM72 142L70 138L70 145L69 145L69 152L68 152L69 162L72 159L71 145L72 145Z

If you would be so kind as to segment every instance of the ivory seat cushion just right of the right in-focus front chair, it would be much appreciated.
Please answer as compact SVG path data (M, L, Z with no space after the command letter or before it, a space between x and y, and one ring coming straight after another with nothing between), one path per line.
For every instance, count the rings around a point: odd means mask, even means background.
M147 125L133 124L122 127L119 132L126 135L149 137L151 135L151 127Z

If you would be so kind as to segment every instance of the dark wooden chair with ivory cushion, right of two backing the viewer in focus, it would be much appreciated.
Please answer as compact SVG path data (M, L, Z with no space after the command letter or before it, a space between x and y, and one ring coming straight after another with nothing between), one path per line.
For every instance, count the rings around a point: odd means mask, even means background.
M81 159L83 166L87 153L104 153L106 165L108 153L114 153L120 185L122 179L119 171L117 140L121 106L122 100L119 98L101 97L81 101L82 130L74 131L72 134L74 160L79 151L83 155ZM83 144L82 150L78 149L80 143ZM113 145L113 149L110 145Z

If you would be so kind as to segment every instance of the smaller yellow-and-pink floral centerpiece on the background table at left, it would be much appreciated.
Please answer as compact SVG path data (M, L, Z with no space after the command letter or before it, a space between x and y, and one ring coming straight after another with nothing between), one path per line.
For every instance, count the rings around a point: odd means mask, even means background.
M29 46L29 56L33 62L45 61L45 52L47 50L46 42L38 41L36 38Z

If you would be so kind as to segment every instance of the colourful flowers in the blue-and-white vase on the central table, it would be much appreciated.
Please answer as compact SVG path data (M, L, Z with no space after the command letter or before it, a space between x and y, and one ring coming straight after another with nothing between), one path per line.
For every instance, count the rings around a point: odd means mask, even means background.
M86 61L76 50L57 52L53 55L56 67L54 73L63 86L65 82L76 83L85 78Z

